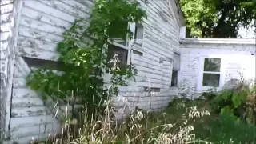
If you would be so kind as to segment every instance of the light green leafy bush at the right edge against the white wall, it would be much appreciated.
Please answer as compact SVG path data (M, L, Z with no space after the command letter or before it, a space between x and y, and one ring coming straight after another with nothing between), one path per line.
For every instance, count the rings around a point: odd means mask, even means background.
M210 99L212 110L215 113L230 114L243 122L255 125L256 105L255 88L243 84L236 90L223 90Z

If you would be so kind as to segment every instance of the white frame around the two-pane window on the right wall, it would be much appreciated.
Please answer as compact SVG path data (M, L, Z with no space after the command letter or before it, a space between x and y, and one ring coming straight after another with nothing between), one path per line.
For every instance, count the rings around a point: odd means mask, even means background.
M204 64L205 64L205 59L206 58L219 58L221 59L221 63L220 63L220 71L219 72L214 72L214 71L204 71ZM198 83L197 83L197 91L198 92L204 92L210 89L214 89L214 90L221 90L223 84L224 84L224 76L225 76L225 67L224 63L225 59L222 58L221 56L206 56L206 57L201 57L200 58L200 62L199 62L199 73L198 73ZM214 86L202 86L202 82L203 82L203 74L219 74L219 84L218 87L214 87Z

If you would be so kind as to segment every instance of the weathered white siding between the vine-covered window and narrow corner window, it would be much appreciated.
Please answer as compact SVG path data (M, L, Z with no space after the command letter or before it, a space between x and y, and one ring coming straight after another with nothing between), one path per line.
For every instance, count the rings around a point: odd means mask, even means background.
M170 101L172 66L166 60L172 58L174 50L178 51L179 26L174 22L174 18L168 15L170 10L165 1L149 1L147 4L144 2L141 4L142 8L146 10L148 18L143 23L145 26L142 44L143 55L133 55L133 62L138 69L137 82L134 83L138 83L137 86L141 87L141 93L138 94L140 97L135 106L156 110L161 106L166 106ZM159 14L160 10L167 13L168 22L162 20ZM134 49L136 50L135 46ZM160 59L164 61L161 63ZM133 82L130 83L134 85ZM158 87L161 90L151 96L143 91L144 86Z

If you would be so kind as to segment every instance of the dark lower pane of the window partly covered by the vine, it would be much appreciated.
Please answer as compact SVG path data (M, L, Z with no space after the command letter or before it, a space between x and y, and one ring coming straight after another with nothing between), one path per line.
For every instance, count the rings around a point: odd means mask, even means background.
M114 66L114 63L110 62L110 60L114 57L114 54L118 54L118 60L119 60L119 62L117 62L118 68L122 69L123 67L126 67L128 50L119 46L114 46L114 45L108 46L107 67L111 69Z

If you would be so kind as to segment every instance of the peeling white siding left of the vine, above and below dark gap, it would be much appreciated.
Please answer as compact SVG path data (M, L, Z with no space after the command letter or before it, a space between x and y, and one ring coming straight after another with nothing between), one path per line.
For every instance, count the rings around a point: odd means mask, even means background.
M22 1L18 22L17 50L21 56L56 61L56 46L62 41L62 32L76 18L89 17L92 2L76 1ZM54 110L45 106L42 98L26 87L30 67L17 56L14 66L13 98L10 113L10 142L29 142L45 139L59 131ZM28 131L29 130L29 131ZM18 138L18 140L17 140Z

